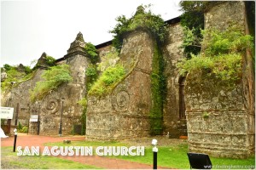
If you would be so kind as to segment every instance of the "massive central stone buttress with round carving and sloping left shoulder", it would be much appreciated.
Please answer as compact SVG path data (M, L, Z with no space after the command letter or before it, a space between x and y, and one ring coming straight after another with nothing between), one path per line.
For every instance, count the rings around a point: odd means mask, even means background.
M125 36L119 63L129 74L111 94L88 97L87 139L148 136L154 43L147 31L131 31Z

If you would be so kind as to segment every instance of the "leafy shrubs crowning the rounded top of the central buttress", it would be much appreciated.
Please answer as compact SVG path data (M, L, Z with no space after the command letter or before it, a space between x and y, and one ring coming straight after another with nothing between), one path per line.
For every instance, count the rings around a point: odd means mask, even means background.
M126 19L125 15L119 16L116 21L118 24L113 28L110 33L113 33L113 46L118 50L122 47L123 34L127 31L133 31L137 28L143 27L147 28L152 35L156 38L157 42L165 42L167 26L160 15L154 15L150 10L145 11L145 8L149 8L150 4L147 6L140 5L137 7L137 12L131 19Z

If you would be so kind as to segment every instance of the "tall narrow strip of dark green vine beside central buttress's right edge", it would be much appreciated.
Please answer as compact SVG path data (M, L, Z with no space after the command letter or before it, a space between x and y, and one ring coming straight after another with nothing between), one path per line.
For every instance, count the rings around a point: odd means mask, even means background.
M155 46L151 78L152 107L150 109L150 133L161 134L163 130L163 102L166 96L166 77L164 59L160 49Z

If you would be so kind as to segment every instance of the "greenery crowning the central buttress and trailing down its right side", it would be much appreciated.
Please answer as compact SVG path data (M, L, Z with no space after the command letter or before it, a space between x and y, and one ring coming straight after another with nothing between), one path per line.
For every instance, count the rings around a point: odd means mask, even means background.
M125 16L117 18L118 24L110 31L114 34L113 46L120 50L122 47L123 35L127 31L134 31L137 28L146 28L156 40L153 57L153 71L151 78L151 94L152 107L149 113L151 134L161 134L163 130L163 102L166 94L166 78L164 77L164 59L160 54L160 45L166 41L167 26L160 15L154 15L149 10L145 11L148 6L137 7L137 12L131 19L126 19ZM125 72L122 74L125 75ZM120 77L121 78L121 77ZM101 86L96 87L97 94L101 94Z

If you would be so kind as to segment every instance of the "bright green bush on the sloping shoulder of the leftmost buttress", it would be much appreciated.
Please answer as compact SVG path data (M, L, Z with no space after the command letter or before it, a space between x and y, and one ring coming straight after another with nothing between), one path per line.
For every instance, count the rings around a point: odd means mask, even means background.
M32 102L37 99L44 99L47 94L61 86L65 82L71 82L72 77L69 65L56 65L44 71L41 76L44 81L37 82L36 87L30 92Z

